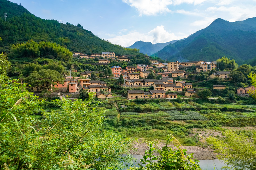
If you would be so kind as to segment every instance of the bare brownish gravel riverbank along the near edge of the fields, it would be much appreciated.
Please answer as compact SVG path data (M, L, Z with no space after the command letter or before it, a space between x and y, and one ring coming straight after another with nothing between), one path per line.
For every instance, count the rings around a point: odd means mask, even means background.
M162 148L164 146L164 143L159 142L156 145L159 148ZM170 147L175 149L174 145L170 145ZM135 148L135 150L130 151L130 154L144 155L145 151L148 150L148 145L146 144L146 142L139 140L138 142L133 143L133 148ZM211 148L202 148L198 146L181 146L180 148L187 149L188 154L194 153L194 158L198 160L218 159Z

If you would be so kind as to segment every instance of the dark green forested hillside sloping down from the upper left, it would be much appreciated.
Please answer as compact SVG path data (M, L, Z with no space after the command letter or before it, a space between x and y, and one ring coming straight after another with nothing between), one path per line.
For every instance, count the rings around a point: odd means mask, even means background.
M36 42L56 42L70 51L80 51L85 54L115 52L117 55L136 54L126 51L119 45L111 44L83 29L81 25L74 26L59 23L57 20L46 20L36 17L23 6L7 0L0 0L0 13L6 11L7 19L0 18L0 52L10 53L10 45L27 42L32 39ZM138 53L137 53L138 54Z

